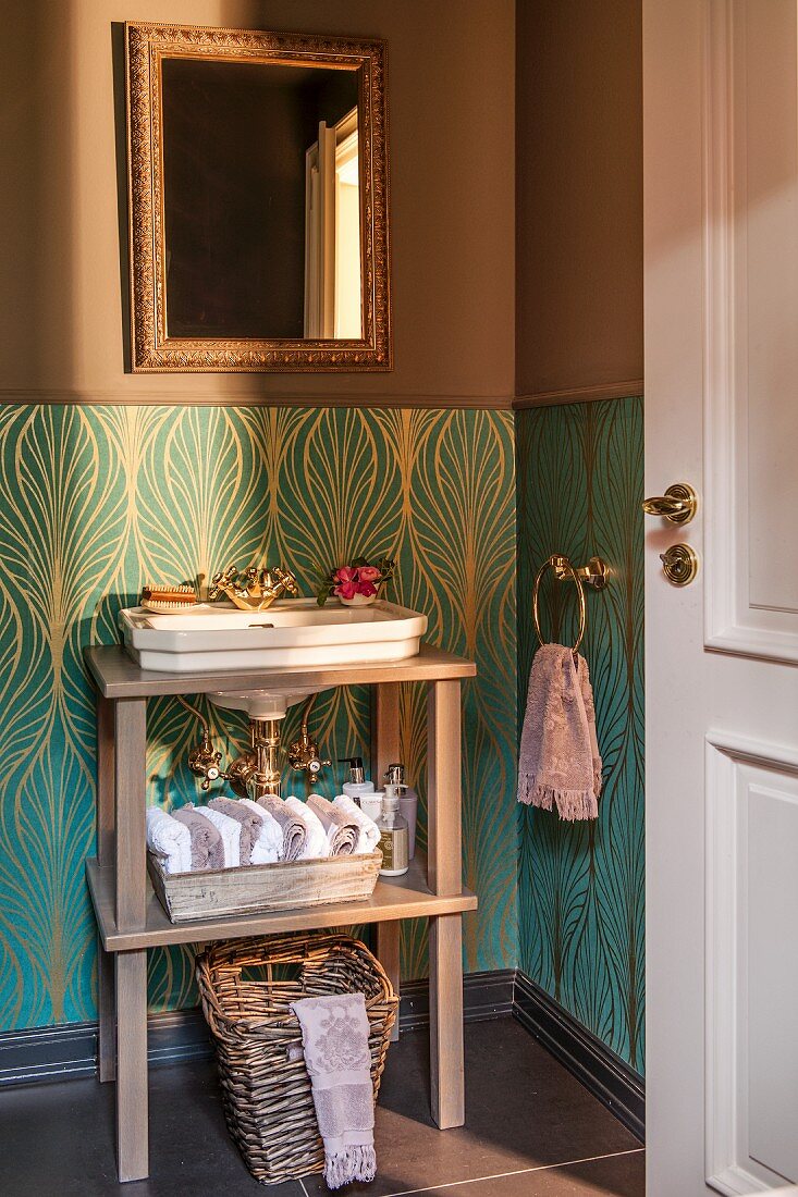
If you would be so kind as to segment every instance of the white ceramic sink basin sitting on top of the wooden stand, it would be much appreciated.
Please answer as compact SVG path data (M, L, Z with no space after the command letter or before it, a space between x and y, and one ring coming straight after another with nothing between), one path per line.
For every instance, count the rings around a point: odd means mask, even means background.
M264 612L198 603L175 615L129 607L119 622L133 660L162 673L403 661L427 631L427 615L382 600L319 607L315 598L280 598Z

